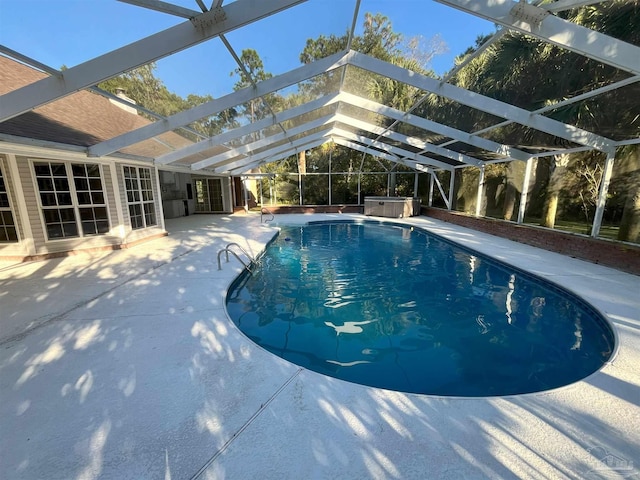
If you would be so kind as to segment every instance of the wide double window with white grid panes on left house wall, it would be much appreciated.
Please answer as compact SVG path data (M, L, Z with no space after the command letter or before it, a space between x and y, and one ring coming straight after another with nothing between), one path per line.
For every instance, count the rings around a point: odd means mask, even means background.
M34 169L50 240L109 231L99 165L35 162Z

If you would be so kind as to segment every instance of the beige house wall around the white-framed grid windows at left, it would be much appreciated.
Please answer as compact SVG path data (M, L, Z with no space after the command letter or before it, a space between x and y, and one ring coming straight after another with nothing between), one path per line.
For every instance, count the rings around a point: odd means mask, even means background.
M0 242L0 260L28 260L46 258L101 249L115 249L166 235L162 220L161 194L158 188L157 169L142 162L120 159L86 158L70 152L34 149L34 152L15 154L2 152L0 145L0 168L9 195L11 212L18 230L18 242ZM18 147L18 149L23 149ZM24 147L28 150L27 147ZM11 149L7 149L11 150ZM13 163L12 163L13 162ZM34 169L35 163L54 162L71 166L77 164L98 164L104 205L106 206L109 229L104 233L83 236L78 212L77 194L74 207L79 236L70 238L48 238L43 205ZM156 225L133 229L129 215L129 204L125 188L124 167L148 169L151 175L150 188L153 193L153 211ZM73 175L68 178L74 182ZM73 187L74 188L74 187ZM75 191L75 189L74 189Z

